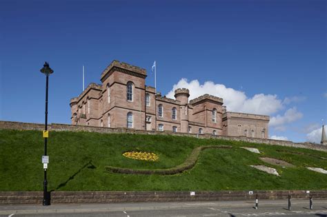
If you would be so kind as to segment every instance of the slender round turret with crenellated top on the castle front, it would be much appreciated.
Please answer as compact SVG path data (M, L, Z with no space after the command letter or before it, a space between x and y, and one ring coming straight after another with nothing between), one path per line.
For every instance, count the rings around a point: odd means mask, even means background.
M181 132L188 132L188 97L190 92L186 88L179 88L175 90L175 98L180 101L179 114L181 115Z

